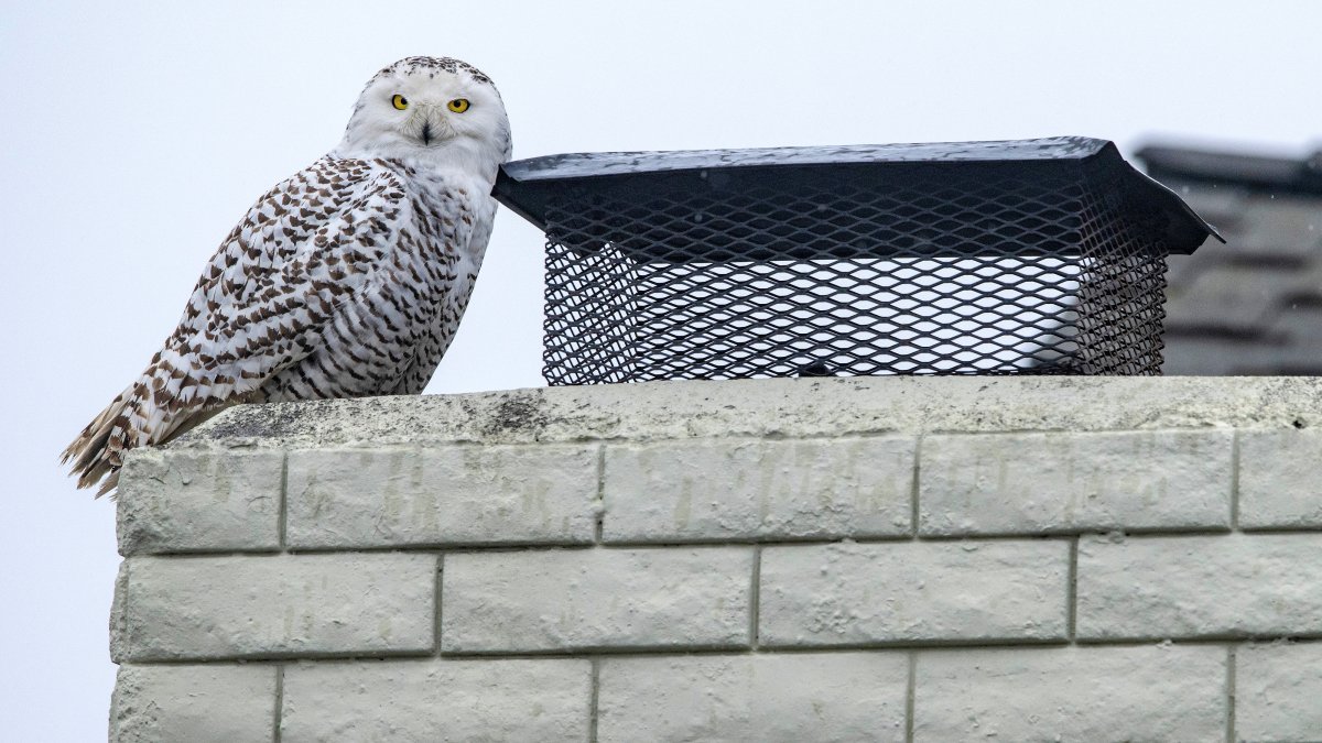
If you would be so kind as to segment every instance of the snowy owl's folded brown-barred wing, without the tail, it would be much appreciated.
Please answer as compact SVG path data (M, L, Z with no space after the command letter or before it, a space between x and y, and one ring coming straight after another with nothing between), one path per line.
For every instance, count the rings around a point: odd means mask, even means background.
M362 160L319 161L234 227L165 349L189 361L186 372L213 370L212 395L251 391L304 358L337 313L379 283L411 215L391 171Z

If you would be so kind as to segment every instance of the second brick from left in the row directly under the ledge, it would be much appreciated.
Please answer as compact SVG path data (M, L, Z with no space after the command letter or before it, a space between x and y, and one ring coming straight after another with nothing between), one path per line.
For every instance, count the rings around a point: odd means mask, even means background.
M583 543L598 447L305 450L290 453L296 549Z

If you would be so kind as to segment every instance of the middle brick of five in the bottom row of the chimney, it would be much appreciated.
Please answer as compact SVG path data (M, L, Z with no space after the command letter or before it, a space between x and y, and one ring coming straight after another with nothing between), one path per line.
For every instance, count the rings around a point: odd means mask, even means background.
M904 740L903 653L603 658L598 740Z

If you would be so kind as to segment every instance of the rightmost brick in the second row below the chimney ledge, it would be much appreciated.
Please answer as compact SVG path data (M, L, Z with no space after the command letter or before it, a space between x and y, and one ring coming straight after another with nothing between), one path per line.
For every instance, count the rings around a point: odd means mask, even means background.
M1322 534L1084 538L1077 570L1079 637L1322 633Z

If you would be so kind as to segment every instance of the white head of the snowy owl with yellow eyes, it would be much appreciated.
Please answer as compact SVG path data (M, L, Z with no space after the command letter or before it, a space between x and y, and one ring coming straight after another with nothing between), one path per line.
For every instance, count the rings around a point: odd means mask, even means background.
M368 81L336 153L456 165L494 180L512 148L489 77L449 57L407 57Z

